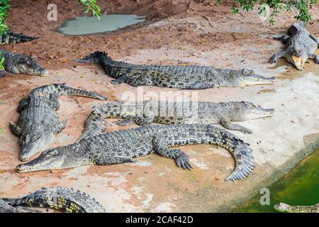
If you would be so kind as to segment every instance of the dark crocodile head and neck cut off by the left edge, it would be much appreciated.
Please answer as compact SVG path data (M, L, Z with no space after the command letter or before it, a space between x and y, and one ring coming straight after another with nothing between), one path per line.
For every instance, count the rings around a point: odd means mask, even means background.
M0 59L2 57L4 57L4 62L2 63L4 69L0 70L0 77L11 75L12 73L30 74L41 77L49 74L49 71L41 67L32 57L0 50Z

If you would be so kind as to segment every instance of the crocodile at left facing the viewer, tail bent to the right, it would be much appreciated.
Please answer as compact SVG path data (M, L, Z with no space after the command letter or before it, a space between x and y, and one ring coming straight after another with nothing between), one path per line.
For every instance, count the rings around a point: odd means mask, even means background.
M57 100L60 95L106 100L106 97L100 94L74 89L65 84L50 84L33 89L30 95L21 99L19 103L18 124L10 123L12 133L20 138L22 161L47 148L52 143L54 135L65 128L67 120L59 122L56 112L60 107Z

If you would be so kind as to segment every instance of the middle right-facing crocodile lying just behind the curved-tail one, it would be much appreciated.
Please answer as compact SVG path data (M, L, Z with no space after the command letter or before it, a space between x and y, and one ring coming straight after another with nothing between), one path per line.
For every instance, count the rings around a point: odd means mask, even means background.
M252 133L231 121L247 121L254 118L272 116L274 109L264 109L248 101L208 102L208 101L141 101L106 102L94 107L105 118L124 118L118 125L137 123L162 124L216 124L230 130Z

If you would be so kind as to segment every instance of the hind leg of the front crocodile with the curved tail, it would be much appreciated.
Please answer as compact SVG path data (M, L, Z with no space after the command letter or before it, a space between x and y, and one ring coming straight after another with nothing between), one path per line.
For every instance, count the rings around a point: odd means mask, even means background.
M157 154L174 159L177 167L182 167L184 170L191 170L193 168L191 164L189 164L189 155L181 149L169 150L164 137L155 136L152 143L153 149Z

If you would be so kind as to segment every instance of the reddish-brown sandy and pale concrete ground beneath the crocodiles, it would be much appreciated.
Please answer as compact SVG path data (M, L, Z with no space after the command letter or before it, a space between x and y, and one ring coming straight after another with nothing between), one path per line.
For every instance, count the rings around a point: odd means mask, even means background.
M285 60L279 60L276 65L268 63L269 57L283 48L279 41L272 40L272 35L286 31L293 23L291 14L284 13L274 26L269 26L256 11L234 16L229 6L197 4L196 1L191 4L183 0L103 1L101 8L105 13L138 13L150 21L115 33L72 37L59 34L56 29L65 19L81 16L83 9L76 1L55 2L58 21L47 21L44 1L12 1L11 29L41 38L4 48L38 58L51 73L45 78L15 75L0 80L0 125L4 128L0 134L0 197L24 195L40 187L63 186L91 194L108 212L230 211L319 147L318 65L309 60L306 69L298 72ZM24 4L28 7L19 9ZM315 20L308 28L319 36L318 8L313 9L313 13ZM267 77L276 76L279 82L201 91L133 88L127 84L114 87L111 78L98 65L74 62L97 49L108 52L116 60L139 64L246 67ZM15 167L21 163L18 160L20 147L7 121L17 120L18 101L30 89L53 82L67 82L71 87L99 92L108 96L108 101L128 96L163 99L182 94L198 97L198 101L252 101L265 108L275 108L276 115L240 123L252 129L251 135L233 132L251 144L256 161L254 173L240 182L224 182L235 162L230 153L213 145L181 148L194 165L191 172L177 168L174 160L154 154L134 164L18 174ZM92 106L99 103L101 101L94 99L61 97L58 112L61 119L67 118L68 124L55 137L53 146L77 140L86 116ZM116 120L107 122L107 131L125 128L116 126Z

